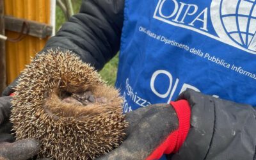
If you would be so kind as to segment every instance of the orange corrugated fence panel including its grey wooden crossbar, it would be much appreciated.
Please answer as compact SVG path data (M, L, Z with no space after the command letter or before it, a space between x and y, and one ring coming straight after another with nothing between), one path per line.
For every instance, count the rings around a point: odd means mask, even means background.
M54 31L55 4L55 0L4 0L7 84L44 47L47 27Z

